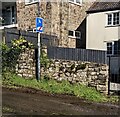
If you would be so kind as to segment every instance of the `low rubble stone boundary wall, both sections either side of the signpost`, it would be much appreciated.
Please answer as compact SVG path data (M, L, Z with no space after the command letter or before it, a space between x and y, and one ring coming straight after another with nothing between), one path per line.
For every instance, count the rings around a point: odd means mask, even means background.
M35 51L26 49L19 55L16 73L26 78L35 77ZM47 67L41 66L41 76L71 83L95 87L101 93L108 93L108 66L81 61L51 60Z

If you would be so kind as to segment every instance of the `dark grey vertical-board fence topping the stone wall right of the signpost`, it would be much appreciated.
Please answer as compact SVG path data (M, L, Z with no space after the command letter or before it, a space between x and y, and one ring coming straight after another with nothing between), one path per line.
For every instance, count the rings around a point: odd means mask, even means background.
M73 61L88 61L107 64L106 51L76 48L48 47L48 58Z

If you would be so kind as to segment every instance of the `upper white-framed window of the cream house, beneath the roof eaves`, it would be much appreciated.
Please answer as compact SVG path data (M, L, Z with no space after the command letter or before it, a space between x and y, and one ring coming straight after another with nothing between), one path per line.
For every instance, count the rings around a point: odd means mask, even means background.
M120 24L120 12L107 14L107 25L114 26Z

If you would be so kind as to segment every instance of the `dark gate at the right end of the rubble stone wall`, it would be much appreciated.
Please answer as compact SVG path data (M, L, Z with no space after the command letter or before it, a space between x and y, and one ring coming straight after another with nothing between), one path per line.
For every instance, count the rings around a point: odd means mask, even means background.
M108 94L120 94L120 55L108 56Z

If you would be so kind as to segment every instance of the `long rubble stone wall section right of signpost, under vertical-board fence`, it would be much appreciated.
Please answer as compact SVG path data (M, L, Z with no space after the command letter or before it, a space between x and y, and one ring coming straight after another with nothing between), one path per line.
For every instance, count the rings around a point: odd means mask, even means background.
M41 75L47 75L58 81L67 80L95 87L101 93L108 93L108 66L104 64L52 60L52 64L41 68Z

